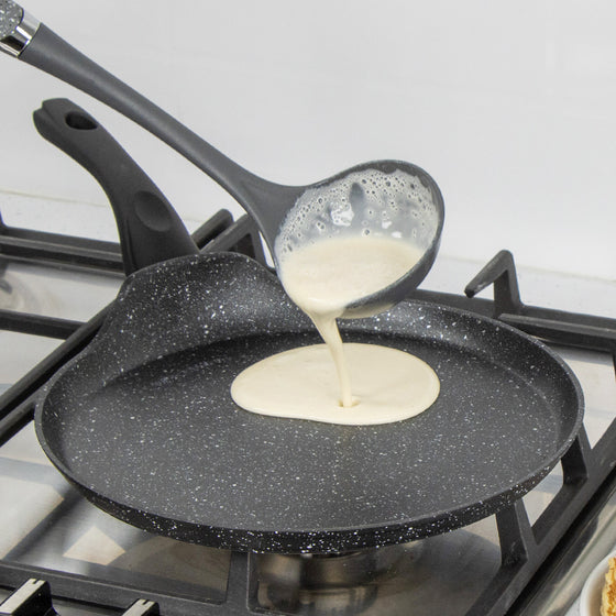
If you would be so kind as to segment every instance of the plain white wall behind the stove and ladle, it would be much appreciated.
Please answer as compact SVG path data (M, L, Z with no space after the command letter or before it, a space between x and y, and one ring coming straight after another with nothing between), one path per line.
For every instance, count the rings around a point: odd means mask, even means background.
M443 255L485 261L507 248L521 265L616 278L614 2L28 0L25 8L264 177L306 184L362 161L407 160L444 194ZM8 221L38 223L36 201L21 196L34 195L86 204L70 207L63 224L79 231L96 220L113 233L102 191L32 125L31 112L53 97L90 111L185 219L218 207L239 212L201 172L72 87L4 55L0 79ZM52 211L65 211L61 201Z

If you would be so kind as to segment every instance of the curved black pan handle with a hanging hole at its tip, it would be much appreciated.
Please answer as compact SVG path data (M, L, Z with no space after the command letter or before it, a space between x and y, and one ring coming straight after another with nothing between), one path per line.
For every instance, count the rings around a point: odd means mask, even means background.
M51 99L33 118L41 135L86 168L107 194L127 274L199 252L161 190L89 113L68 99Z

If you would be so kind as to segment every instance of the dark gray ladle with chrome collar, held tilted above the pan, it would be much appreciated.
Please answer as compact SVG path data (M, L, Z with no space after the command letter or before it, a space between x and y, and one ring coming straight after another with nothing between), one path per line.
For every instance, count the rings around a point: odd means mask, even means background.
M365 224L377 224L380 233L397 233L418 244L425 252L408 274L383 290L349 306L344 317L375 314L393 306L414 290L430 270L440 242L444 208L437 184L419 167L397 161L378 161L352 167L310 186L274 184L253 175L224 156L168 113L76 51L11 0L0 0L0 48L116 109L207 173L252 215L276 263L276 237L297 200L307 193L312 195L317 188L327 189L333 183L351 177L345 183L349 187L346 207L353 210L351 213L356 231L362 230L362 224L364 230ZM374 179L375 174L380 184L378 194L372 191L372 180L366 186L366 178ZM384 188L389 183L384 176L395 179L392 183L396 185L394 194ZM403 187L402 183L407 186ZM375 204L375 198L382 202ZM403 221L399 212L405 209L407 212L404 224L398 224ZM320 217L319 224L333 227L332 217L327 216L327 211L323 213L326 216ZM375 220L375 213L378 220ZM371 217L372 221L369 220ZM348 226L350 217L343 216L342 219L342 227ZM338 232L339 229L334 231Z

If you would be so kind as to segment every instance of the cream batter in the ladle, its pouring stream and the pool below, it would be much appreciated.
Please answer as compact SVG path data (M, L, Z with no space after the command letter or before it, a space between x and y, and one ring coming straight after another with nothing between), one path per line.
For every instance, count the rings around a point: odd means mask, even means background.
M327 346L295 349L250 366L232 385L235 403L266 415L353 425L397 421L428 408L439 393L430 366L394 349L342 344L336 322L346 306L396 282L420 257L407 242L371 235L326 239L289 252L279 263L280 280Z

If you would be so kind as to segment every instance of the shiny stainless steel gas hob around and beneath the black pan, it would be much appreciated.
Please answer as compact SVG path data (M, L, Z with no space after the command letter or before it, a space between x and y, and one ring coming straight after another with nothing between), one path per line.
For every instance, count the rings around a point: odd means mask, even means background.
M250 237L254 246L250 222L224 220L215 226L220 235L210 230L200 245L244 250ZM566 612L616 542L614 285L522 273L522 296L546 310L522 307L512 317L498 267L486 274L496 278L496 301L469 299L461 294L477 265L438 258L422 285L429 290L419 292L425 297L496 310L557 341L553 349L584 392L585 431L563 463L510 510L465 528L342 556L246 556L129 526L91 505L48 462L31 420L33 396L67 345L70 355L87 344L100 317L79 323L113 300L122 274L96 260L85 264L45 251L31 257L31 245L8 240L0 248L0 601L10 598L0 614L48 614L53 603L63 615L556 615ZM36 240L45 243L44 234ZM109 245L97 249L116 253ZM506 264L507 255L498 263ZM579 311L597 317L580 322ZM574 324L559 334L559 319ZM36 331L43 334L31 333ZM36 582L15 592L29 580Z

